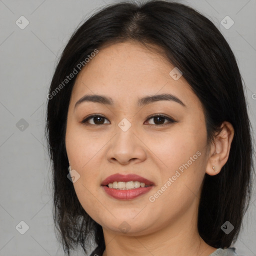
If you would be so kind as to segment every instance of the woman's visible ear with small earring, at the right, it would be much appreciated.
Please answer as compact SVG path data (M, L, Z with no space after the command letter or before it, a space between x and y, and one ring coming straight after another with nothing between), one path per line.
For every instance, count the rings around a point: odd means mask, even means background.
M210 153L205 171L209 175L218 174L226 163L234 136L234 129L230 122L224 121L220 128L221 131L216 134L214 141L210 146ZM212 166L214 166L216 172Z

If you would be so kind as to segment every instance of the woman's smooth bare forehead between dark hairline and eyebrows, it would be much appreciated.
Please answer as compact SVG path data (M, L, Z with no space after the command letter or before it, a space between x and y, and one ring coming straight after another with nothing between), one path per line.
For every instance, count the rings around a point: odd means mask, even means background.
M78 100L86 93L95 93L122 100L159 92L196 100L182 76L178 80L170 76L173 68L162 55L141 44L116 43L99 49L86 63L76 77L71 97Z

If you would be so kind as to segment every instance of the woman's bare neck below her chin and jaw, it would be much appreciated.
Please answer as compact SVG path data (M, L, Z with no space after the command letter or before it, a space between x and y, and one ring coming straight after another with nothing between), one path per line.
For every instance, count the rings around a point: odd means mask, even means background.
M197 231L197 214L186 213L172 219L171 224L143 235L120 234L103 228L106 244L103 256L208 256L216 248L209 246L200 237Z

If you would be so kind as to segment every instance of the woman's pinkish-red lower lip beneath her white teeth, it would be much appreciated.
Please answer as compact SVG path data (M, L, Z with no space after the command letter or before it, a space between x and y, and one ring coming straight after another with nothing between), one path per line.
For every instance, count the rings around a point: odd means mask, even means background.
M133 198L136 198L137 196L147 193L153 186L147 186L147 187L138 187L133 189L115 189L115 188L109 188L108 186L103 186L105 192L114 197L115 199L120 200L130 200Z

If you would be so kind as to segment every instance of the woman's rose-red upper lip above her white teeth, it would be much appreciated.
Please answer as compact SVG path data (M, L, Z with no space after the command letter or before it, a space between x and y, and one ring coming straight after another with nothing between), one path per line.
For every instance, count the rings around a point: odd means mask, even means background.
M123 182L127 182L127 181L139 181L142 183L145 183L145 185L154 185L153 181L150 181L146 178L143 178L137 174L120 174L120 173L115 173L112 174L108 177L106 177L102 182L101 182L101 186L105 186L109 183L113 183L114 181L123 181Z

